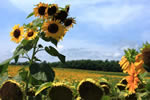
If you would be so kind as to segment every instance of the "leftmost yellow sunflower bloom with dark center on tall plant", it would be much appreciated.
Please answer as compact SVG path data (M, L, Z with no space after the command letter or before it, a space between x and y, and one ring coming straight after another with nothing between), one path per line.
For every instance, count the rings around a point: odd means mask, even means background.
M23 33L24 33L24 28L19 27L19 24L15 25L13 27L13 30L10 32L11 40L16 43L19 43L23 38L23 36L22 36Z

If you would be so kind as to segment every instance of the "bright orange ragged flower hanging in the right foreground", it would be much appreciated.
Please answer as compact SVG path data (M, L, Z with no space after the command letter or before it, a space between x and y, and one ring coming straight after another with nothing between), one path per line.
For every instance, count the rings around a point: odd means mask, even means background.
M129 93L135 93L135 89L138 87L138 82L140 81L138 78L139 72L136 72L135 66L131 63L131 69L128 71L130 76L126 77L128 82L127 88L129 88Z

